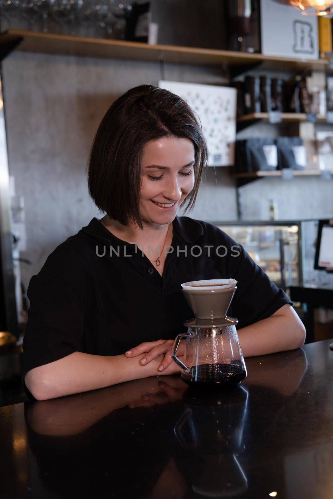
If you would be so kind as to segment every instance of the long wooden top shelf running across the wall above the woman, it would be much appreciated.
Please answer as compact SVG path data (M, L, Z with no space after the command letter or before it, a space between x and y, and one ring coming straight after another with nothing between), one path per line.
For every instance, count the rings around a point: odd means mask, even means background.
M8 50L8 47L10 48ZM85 38L53 33L36 33L18 29L8 29L0 33L0 51L7 54L16 48L26 52L47 54L78 55L158 61L195 65L246 68L262 64L266 69L283 71L304 71L314 69L325 71L329 67L326 59L296 59L272 57L263 54L234 52L210 48L182 47L174 45L149 45L148 43L103 38ZM5 56L5 55L2 55Z

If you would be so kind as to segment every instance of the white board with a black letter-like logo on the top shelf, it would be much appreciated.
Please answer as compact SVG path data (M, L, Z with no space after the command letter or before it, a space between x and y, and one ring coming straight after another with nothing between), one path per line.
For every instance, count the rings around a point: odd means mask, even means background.
M318 18L292 5L261 0L261 46L265 55L318 59Z

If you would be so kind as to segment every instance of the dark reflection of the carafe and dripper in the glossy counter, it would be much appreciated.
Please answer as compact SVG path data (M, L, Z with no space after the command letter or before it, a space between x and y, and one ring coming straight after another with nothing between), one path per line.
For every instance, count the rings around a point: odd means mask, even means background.
M174 428L181 445L178 469L199 496L239 497L248 489L239 457L244 448L248 391L238 387L225 397L195 392L196 397L193 393L190 389L184 392L185 411Z

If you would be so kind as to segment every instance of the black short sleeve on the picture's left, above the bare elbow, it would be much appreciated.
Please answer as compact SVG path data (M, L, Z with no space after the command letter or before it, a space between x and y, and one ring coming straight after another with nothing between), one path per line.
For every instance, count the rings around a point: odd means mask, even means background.
M33 275L27 296L30 306L22 343L22 386L28 398L35 400L24 383L25 374L80 351L83 317L68 283L53 275Z

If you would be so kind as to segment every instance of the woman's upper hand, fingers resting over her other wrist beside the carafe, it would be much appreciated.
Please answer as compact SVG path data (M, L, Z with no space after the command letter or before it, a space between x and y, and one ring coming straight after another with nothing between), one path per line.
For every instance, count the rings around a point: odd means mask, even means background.
M139 361L139 364L142 366L146 366L153 359L158 357L159 355L163 355L164 357L158 366L159 372L164 372L171 363L176 363L171 358L171 352L173 349L173 344L175 340L157 340L157 341L147 341L145 343L140 343L140 345L132 348L128 352L125 352L125 356L128 358L135 357L136 355L140 355L142 353L147 353L143 358ZM186 340L181 340L177 349L177 357L180 357L184 354ZM169 369L170 371L170 369ZM180 368L179 368L180 371ZM170 372L171 374L171 372Z

